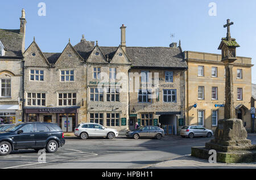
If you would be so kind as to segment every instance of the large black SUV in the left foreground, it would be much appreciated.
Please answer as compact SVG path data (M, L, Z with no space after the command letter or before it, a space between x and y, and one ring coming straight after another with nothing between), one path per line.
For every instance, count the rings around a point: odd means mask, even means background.
M18 123L0 132L0 156L9 155L12 150L46 148L49 153L56 152L65 144L63 131L55 123Z

